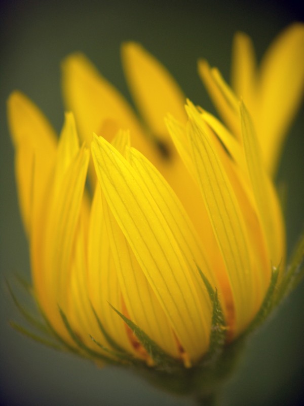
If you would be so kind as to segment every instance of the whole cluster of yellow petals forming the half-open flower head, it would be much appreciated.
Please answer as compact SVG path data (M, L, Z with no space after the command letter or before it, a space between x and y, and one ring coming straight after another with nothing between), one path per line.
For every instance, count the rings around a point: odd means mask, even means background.
M231 342L252 323L277 269L284 279L270 174L302 94L303 44L303 25L287 28L257 72L238 35L236 94L199 62L226 127L184 108L170 74L135 43L122 56L141 120L81 54L62 65L70 112L59 140L26 96L10 96L34 295L61 346L149 365L158 351L189 367L215 325ZM221 309L225 322L214 322Z

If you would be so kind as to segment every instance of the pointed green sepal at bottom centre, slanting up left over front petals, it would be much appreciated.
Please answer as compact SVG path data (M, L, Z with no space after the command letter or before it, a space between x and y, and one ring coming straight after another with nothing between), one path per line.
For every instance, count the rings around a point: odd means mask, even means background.
M132 330L134 335L136 336L137 340L140 344L144 347L147 351L149 356L153 359L155 364L160 368L172 368L172 367L180 367L181 363L174 358L170 357L168 354L162 350L155 341L151 340L150 337L140 328L138 327L133 321L128 319L124 316L121 312L119 312L115 307L110 304L111 308L124 320L127 326Z

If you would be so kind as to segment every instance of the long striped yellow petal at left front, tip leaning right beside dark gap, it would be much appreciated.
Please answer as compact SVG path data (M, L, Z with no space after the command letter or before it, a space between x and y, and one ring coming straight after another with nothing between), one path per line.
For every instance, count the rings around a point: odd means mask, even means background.
M37 286L37 290L42 302L47 302L48 307L53 307L56 316L58 304L63 310L66 307L71 254L80 216L88 161L88 151L82 148L69 165L60 191L56 200L52 201L46 217L44 263L42 264L45 286ZM49 198L54 199L54 197L50 193ZM39 272L41 272L40 269L35 269L35 273Z

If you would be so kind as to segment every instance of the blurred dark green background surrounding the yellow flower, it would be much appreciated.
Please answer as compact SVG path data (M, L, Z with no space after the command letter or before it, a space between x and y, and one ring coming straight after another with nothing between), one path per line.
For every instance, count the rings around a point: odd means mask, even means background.
M129 98L120 44L140 42L160 59L194 103L214 111L198 75L205 57L229 79L234 32L253 39L257 56L277 33L303 21L299 0L285 1L1 1L0 2L0 403L7 406L186 406L123 369L98 369L88 361L36 344L9 326L20 320L6 279L29 279L27 242L19 216L6 99L26 93L59 131L63 122L60 61L84 52ZM304 109L291 128L278 180L288 186L290 248L304 226ZM222 392L225 406L300 405L304 399L304 284L247 346L240 367Z

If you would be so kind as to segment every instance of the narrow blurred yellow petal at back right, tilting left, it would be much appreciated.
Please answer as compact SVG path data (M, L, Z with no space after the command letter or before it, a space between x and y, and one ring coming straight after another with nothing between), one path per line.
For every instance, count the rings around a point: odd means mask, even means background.
M241 138L238 115L238 100L230 87L225 83L216 68L210 68L205 60L199 60L199 75L212 98L212 101L226 126Z

